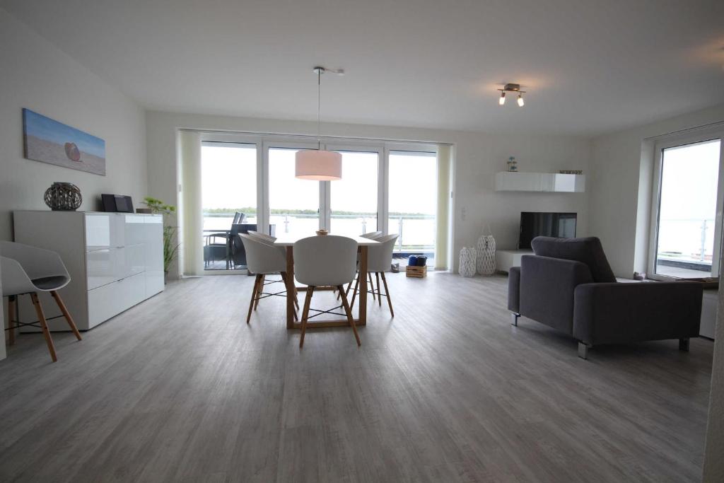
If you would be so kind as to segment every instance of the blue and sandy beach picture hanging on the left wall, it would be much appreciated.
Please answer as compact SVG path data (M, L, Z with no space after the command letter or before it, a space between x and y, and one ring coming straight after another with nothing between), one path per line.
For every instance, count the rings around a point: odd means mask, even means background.
M25 158L106 175L106 141L30 109L22 109Z

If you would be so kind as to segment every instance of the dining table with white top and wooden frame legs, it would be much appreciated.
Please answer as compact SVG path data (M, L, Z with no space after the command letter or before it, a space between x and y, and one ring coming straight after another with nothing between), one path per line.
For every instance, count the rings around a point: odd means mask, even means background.
M310 236L327 236L327 235L293 235L292 233L282 233L279 238L274 241L274 245L284 247L287 253L287 273L286 273L286 284L287 284L287 329L300 329L302 327L301 322L295 321L295 292L306 291L306 287L297 287L294 279L294 244L297 240L302 238L308 238ZM351 238L357 242L357 250L359 253L359 303L358 303L358 315L355 319L355 324L366 325L367 324L367 252L369 247L378 245L379 242L370 240L369 238L358 237L358 236L346 236L345 238ZM334 290L334 287L319 287L316 290ZM307 329L320 328L320 327L349 327L350 322L347 319L338 320L323 320L318 322L307 322Z

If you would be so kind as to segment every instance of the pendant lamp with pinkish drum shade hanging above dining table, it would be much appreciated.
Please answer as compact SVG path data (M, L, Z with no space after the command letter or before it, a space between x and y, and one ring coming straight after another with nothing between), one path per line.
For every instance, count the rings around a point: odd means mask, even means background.
M320 131L320 99L321 75L332 72L344 75L344 70L331 70L324 67L314 67L317 75L317 148L297 151L295 156L295 177L302 180L334 181L342 179L342 154L337 151L322 151Z

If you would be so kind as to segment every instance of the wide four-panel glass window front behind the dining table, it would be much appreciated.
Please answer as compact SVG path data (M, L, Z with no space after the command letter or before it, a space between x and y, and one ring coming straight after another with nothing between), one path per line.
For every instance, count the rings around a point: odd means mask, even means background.
M301 237L320 228L397 234L397 259L424 253L434 264L435 146L232 133L201 133L201 140L205 270L246 269L238 234L247 230ZM342 154L341 180L295 177L297 152L316 148Z

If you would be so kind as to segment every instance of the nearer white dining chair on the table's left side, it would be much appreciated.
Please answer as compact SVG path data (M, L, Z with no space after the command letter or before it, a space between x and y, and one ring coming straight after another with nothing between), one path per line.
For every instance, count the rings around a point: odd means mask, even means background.
M259 301L262 298L268 297L285 297L287 291L282 290L280 292L264 292L266 285L274 283L284 282L284 286L287 286L287 254L285 249L282 247L274 246L269 240L262 238L256 238L245 233L239 234L242 243L244 244L244 250L246 251L246 264L256 274L254 280L254 286L251 291L251 301L249 302L249 311L246 315L246 323L248 324L251 320L251 312L256 311L256 307L259 305ZM282 280L270 280L266 281L266 275L280 274ZM294 299L295 306L299 308L299 303ZM297 312L294 312L294 318L297 319Z

